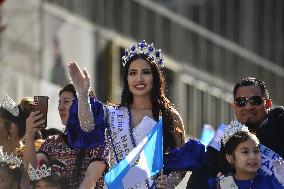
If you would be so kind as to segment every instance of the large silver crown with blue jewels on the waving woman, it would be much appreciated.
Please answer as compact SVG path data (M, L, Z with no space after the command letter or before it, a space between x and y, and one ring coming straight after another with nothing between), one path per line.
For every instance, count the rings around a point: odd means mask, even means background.
M122 65L125 66L126 63L135 55L144 54L148 57L150 61L153 61L159 69L164 67L164 58L161 54L161 49L155 49L154 44L147 44L145 40L140 43L134 43L130 49L124 50L124 55L122 57Z

